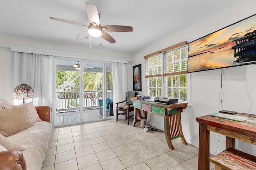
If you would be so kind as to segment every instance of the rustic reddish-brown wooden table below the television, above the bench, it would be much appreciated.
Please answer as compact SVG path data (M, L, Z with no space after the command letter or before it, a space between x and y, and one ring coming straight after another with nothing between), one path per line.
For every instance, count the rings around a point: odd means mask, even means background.
M251 114L237 113L248 117ZM226 149L235 148L235 139L256 145L256 121L233 121L212 115L197 117L199 122L198 170L209 170L210 131L226 136Z

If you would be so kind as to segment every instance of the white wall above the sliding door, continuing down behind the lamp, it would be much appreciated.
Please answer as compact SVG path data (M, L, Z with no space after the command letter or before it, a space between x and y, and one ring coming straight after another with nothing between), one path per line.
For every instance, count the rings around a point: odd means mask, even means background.
M120 59L126 61L132 60L132 55L126 53L116 53L112 51L95 50L85 47L75 47L0 34L0 98L7 100L10 103L13 103L11 98L12 92L15 88L13 84L14 72L12 67L14 63L14 52L12 52L11 49L6 46L27 47L38 49L38 51L47 51L48 53L58 52L62 55L70 53L77 54L80 58L84 57L86 61L97 60L97 57L100 57L100 61L102 61L102 59L116 62Z

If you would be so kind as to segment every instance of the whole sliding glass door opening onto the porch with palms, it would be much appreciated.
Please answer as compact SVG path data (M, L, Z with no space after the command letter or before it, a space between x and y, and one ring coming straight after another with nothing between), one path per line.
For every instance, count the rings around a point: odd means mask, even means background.
M57 59L54 125L113 116L112 84L112 64Z

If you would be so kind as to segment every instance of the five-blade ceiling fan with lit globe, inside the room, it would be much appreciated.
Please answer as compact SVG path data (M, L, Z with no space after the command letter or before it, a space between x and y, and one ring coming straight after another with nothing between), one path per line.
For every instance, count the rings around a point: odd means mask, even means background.
M130 26L124 26L124 25L100 25L100 14L98 14L97 7L93 4L90 4L86 2L86 10L87 10L87 16L90 21L89 25L78 23L74 21L64 20L60 18L54 18L50 17L52 20L56 21L62 21L66 23L71 23L74 25L79 25L83 27L88 27L88 30L84 31L81 34L78 34L78 37L76 39L83 39L88 37L89 35L92 37L102 37L106 41L110 43L115 43L116 40L111 37L106 31L110 32L128 32L132 31L132 27Z

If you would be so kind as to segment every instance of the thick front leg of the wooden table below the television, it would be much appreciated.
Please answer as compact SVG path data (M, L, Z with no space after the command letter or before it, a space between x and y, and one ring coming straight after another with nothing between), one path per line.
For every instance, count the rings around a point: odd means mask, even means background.
M199 152L198 152L198 170L210 169L210 131L206 125L199 123Z

